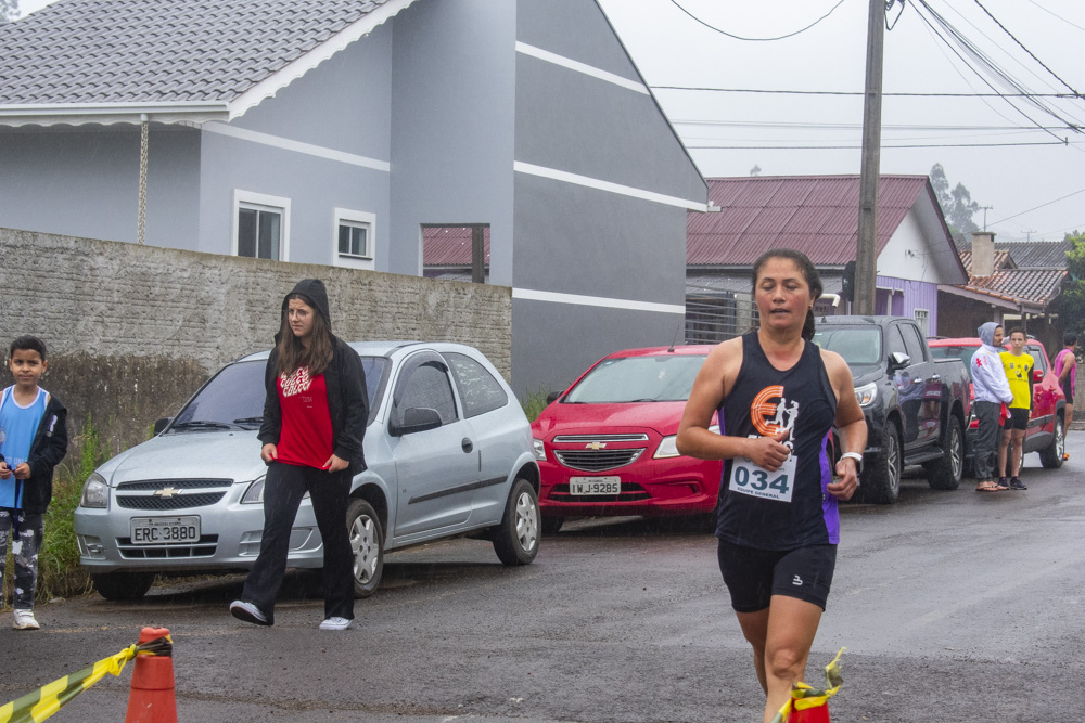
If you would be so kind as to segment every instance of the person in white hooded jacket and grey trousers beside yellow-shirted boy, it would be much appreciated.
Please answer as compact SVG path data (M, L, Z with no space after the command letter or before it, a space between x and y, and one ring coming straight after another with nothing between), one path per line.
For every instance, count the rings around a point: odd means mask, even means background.
M988 321L979 328L983 346L972 354L972 410L980 427L975 435L976 492L1008 490L995 481L995 461L998 457L998 437L1001 425L999 413L1003 404L1013 400L998 353L1003 350L1003 327Z

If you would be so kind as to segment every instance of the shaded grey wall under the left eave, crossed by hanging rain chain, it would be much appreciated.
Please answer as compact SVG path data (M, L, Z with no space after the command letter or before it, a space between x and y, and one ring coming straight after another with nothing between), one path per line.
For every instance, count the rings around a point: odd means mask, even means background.
M146 243L195 248L200 133L152 126ZM0 130L0 227L138 237L140 132L131 127Z

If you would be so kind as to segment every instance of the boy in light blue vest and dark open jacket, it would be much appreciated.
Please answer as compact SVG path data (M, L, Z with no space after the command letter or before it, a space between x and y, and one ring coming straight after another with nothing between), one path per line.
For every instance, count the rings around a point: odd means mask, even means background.
M38 551L53 498L53 467L67 453L67 410L38 386L48 366L44 343L18 337L8 352L15 384L0 392L0 582L14 533L15 630L40 627L34 619Z

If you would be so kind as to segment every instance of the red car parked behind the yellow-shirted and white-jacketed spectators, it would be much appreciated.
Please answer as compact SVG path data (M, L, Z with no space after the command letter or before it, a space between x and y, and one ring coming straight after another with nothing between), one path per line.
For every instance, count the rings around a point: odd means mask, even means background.
M969 362L972 354L980 348L980 339L966 337L958 339L928 339L931 353L940 359L959 357L971 372ZM1006 344L1009 349L1009 344ZM1059 387L1059 380L1051 369L1044 345L1036 339L1025 341L1024 351L1032 354L1033 390L1032 412L1029 416L1029 429L1025 431L1024 452L1039 452L1039 460L1045 467L1061 467L1062 453L1065 450L1065 405L1067 398ZM969 423L968 437L971 442L975 435L976 421ZM968 444L971 456L972 444Z

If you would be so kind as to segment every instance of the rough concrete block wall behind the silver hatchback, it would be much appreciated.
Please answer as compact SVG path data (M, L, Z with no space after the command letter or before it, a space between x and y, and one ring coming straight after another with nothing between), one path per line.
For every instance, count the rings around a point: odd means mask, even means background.
M283 296L328 286L332 331L349 341L469 344L511 376L512 294L503 286L281 263L0 229L0 346L49 349L41 386L88 416L112 452L146 439L224 363L270 348ZM0 387L12 383L5 371Z

